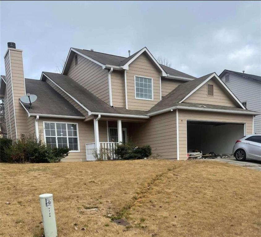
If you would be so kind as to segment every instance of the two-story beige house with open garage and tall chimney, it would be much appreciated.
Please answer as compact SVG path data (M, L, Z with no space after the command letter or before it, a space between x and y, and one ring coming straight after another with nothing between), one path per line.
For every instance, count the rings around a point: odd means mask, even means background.
M216 73L195 78L159 64L144 47L129 57L71 48L63 71L24 78L22 50L4 55L1 95L8 137L35 134L52 147L68 146L63 161L94 160L117 142L150 145L162 159L186 160L189 149L231 153L253 133L253 117ZM32 104L20 101L35 94Z

